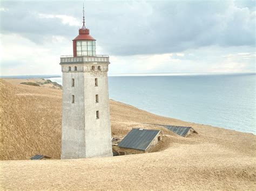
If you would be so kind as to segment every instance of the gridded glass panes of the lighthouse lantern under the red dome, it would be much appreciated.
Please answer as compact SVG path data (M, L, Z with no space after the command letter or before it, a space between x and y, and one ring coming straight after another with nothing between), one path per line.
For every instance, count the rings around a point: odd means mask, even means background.
M96 40L77 40L77 56L95 56Z

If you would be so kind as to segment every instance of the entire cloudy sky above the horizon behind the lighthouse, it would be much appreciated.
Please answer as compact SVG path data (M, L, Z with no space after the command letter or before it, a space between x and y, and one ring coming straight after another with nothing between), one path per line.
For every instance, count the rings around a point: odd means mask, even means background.
M0 75L62 74L83 2L109 74L255 72L255 0L1 0Z

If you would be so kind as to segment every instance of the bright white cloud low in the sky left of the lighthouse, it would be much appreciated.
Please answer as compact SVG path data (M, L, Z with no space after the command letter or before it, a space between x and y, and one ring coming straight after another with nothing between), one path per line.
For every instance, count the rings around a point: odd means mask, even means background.
M60 73L59 54L69 53L65 38L39 46L18 34L1 34L1 75ZM15 45L12 40L15 39ZM64 45L64 46L62 46Z

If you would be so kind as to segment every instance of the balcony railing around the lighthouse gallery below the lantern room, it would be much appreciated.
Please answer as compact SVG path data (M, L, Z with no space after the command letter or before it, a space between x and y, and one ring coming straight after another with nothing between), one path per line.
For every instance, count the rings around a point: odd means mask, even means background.
M95 55L95 56L76 56L63 55L60 56L60 63L71 62L109 62L109 55Z

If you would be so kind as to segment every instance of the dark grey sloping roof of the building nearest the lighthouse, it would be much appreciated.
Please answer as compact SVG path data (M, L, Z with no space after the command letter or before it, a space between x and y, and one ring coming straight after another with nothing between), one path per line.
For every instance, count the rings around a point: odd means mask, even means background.
M146 151L159 133L160 130L132 129L118 146Z

